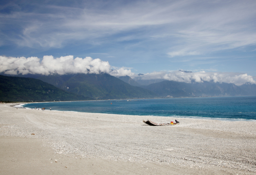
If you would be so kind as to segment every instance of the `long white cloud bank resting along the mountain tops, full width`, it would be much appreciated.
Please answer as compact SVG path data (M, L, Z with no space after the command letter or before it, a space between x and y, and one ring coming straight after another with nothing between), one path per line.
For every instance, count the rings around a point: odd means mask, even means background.
M111 70L108 61L92 59L91 57L73 58L72 55L54 58L53 56L44 56L42 60L37 57L6 57L0 56L0 72L9 75L18 74L69 74L69 73L109 73L110 75L130 76L133 79L165 79L177 82L219 82L234 83L237 86L245 83L256 84L253 76L241 73L223 73L223 72L187 72L187 71L159 71L146 74L135 74L127 68Z

